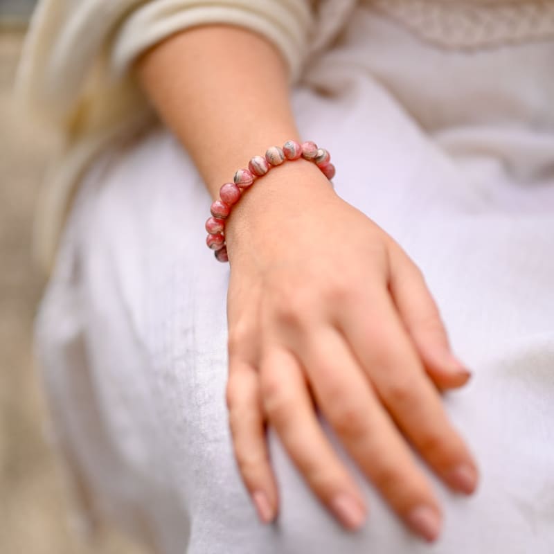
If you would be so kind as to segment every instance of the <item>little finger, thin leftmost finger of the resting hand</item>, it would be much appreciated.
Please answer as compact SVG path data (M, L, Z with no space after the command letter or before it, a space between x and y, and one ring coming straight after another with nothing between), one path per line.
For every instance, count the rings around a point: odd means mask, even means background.
M269 523L277 514L278 492L269 463L260 379L252 366L236 357L229 363L226 402L240 476L260 520Z

